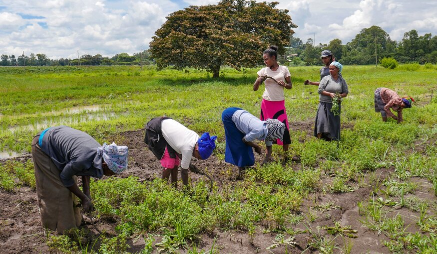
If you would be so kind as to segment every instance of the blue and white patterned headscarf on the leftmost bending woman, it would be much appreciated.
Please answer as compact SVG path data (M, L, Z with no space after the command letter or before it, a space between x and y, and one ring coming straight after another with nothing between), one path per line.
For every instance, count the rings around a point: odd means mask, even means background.
M104 143L97 148L97 154L103 157L112 172L119 174L127 168L127 150L127 146L119 146L114 142L110 145Z

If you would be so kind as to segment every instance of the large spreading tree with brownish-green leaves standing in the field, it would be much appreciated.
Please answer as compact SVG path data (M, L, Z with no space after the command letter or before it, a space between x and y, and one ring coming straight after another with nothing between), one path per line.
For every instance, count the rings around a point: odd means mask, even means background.
M269 45L289 45L297 27L278 2L222 0L171 13L150 42L158 68L206 69L218 77L222 65L254 67Z

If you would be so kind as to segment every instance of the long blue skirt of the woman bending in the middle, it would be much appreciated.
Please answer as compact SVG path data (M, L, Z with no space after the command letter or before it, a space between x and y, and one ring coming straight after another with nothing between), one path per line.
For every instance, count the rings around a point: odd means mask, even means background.
M222 113L223 127L225 127L226 150L225 161L238 167L247 167L255 164L252 146L243 143L246 133L241 132L234 121L232 115L240 108L228 108Z

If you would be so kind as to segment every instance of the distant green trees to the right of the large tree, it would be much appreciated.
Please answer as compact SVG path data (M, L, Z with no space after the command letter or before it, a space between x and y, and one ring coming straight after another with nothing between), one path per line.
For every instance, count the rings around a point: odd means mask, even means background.
M325 49L331 50L336 60L346 65L375 64L384 57L392 57L400 63L437 63L436 35L426 33L419 36L413 29L404 33L401 41L395 41L376 25L363 28L346 45L340 39L333 39L329 44L313 45L312 38L303 43L300 38L291 36L290 47L282 61L292 66L320 65L320 52Z

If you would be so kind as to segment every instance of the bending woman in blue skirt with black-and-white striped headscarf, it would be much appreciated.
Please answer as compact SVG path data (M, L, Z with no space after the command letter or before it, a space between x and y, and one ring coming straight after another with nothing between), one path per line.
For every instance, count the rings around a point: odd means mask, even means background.
M225 128L225 161L236 165L241 176L244 167L255 164L253 149L261 154L261 147L253 141L265 140L267 162L272 154L272 144L276 139L282 140L285 125L277 119L261 121L240 108L228 108L222 113Z

